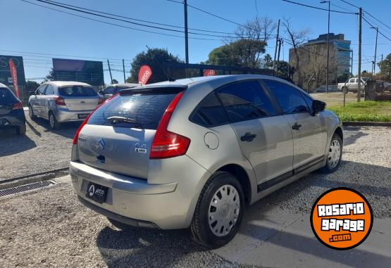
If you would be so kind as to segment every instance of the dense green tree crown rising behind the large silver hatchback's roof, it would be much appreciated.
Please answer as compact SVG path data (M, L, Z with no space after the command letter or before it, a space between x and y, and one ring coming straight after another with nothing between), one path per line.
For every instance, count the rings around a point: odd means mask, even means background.
M266 42L239 39L219 46L209 53L208 64L247 68L260 68L260 55L265 53Z

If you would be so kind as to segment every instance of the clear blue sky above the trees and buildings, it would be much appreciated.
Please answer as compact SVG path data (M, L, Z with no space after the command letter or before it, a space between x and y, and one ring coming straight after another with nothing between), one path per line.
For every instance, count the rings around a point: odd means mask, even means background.
M39 4L39 2L35 0L28 1ZM131 18L183 26L182 4L166 0L58 1ZM327 4L320 4L320 1L293 1L327 8ZM391 27L391 1L347 1L356 6L362 6L365 11L368 11L368 13L374 15L385 23L385 25ZM216 15L221 15L221 17L228 18L237 23L245 23L247 20L255 18L257 15L257 6L259 17L268 16L273 20L282 19L284 17L290 18L294 29L309 28L311 30L310 39L318 37L318 34L327 33L327 11L297 6L281 0L188 0L188 4L202 8ZM357 11L353 6L349 6L340 0L331 0L331 4L331 9L339 11ZM123 73L119 72L119 70L122 70L121 59L125 59L125 65L128 71L132 58L140 51L145 51L146 45L149 47L165 48L168 49L170 53L173 53L180 58L185 58L185 40L182 37L167 37L159 34L139 32L123 27L106 25L85 18L77 18L73 15L52 11L20 0L0 0L0 11L2 22L0 24L2 37L0 42L0 54L23 56L26 78L44 77L52 66L51 57L61 58L61 56L37 53L79 56L77 58L87 60L102 60L104 61L104 69L107 68L105 67L107 66L105 63L106 58L109 58L111 59L111 65L114 69L113 78L118 79L120 82L123 82ZM233 32L237 27L237 25L233 23L228 23L227 21L211 15L201 13L193 8L188 9L188 18L189 27L193 28ZM376 25L379 26L379 30L391 39L391 28L380 24L378 21L373 20L373 18L368 17L368 15L366 15L365 18L376 23ZM354 50L353 70L356 72L356 60L358 55L357 16L331 13L330 20L330 32L345 34L345 39L352 41L352 49ZM111 22L128 25L129 27L146 29L145 27L137 25L129 25L116 21ZM156 31L163 32L161 30ZM175 32L171 32L171 34L181 35L181 33ZM190 63L199 63L199 61L206 60L208 53L212 49L223 44L223 40L219 37L210 38L216 40L190 39ZM370 29L368 24L363 20L362 56L364 64L361 70L371 70L371 63L368 62L373 60L375 39L376 31ZM271 40L267 48L267 52L272 56L274 54L274 44L275 40ZM283 54L280 56L281 59L288 60L289 48L289 44L285 43L283 46ZM18 51L18 53L8 51ZM391 41L379 34L377 54L380 56L382 53L384 56L391 53ZM105 71L104 76L106 83L108 83L110 77L107 71Z

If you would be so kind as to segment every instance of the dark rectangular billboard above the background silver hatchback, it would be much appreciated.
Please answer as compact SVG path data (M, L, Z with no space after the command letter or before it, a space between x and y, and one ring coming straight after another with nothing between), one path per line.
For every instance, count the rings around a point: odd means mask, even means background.
M94 60L69 60L53 58L54 79L77 81L101 86L104 84L103 64Z

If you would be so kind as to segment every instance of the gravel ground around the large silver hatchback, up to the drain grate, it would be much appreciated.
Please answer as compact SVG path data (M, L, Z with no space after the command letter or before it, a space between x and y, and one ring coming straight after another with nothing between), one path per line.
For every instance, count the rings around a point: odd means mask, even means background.
M368 198L375 217L391 217L391 128L349 127L340 170L314 172L247 210L308 214L324 191L347 186ZM238 267L199 249L187 230L120 230L80 205L66 182L0 199L0 267ZM278 260L276 260L278 266Z

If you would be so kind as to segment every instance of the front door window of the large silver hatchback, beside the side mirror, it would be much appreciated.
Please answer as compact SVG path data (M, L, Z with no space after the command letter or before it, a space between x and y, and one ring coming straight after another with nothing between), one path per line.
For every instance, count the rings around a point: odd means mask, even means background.
M264 80L269 89L273 92L283 113L306 113L309 112L302 93L289 85L272 80Z

